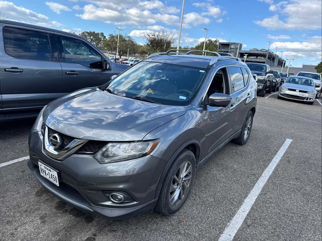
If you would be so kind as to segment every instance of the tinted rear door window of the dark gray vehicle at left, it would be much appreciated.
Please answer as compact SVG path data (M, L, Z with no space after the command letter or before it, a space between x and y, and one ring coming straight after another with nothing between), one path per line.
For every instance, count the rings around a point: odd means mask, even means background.
M52 60L47 33L5 27L3 28L5 51L20 59Z

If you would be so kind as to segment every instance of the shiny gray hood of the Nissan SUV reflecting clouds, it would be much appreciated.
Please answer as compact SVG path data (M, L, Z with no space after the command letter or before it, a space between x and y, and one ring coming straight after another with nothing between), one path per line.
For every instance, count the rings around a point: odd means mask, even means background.
M184 106L144 102L95 87L54 100L43 118L49 128L74 138L137 141L185 112Z

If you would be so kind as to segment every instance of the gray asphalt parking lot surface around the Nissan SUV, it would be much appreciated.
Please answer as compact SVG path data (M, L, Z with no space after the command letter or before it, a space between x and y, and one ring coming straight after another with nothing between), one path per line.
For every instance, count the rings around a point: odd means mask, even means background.
M0 240L218 240L286 139L292 143L233 240L321 240L321 109L317 100L258 97L249 142L214 154L184 206L168 217L87 214L38 184L26 161L1 167ZM28 155L33 122L0 123L0 163Z

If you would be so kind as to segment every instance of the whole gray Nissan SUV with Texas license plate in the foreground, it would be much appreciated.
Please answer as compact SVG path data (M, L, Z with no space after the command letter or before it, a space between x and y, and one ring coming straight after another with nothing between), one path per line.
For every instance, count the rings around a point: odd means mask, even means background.
M108 217L179 210L202 163L229 141L246 144L257 102L240 59L181 51L45 106L29 136L36 179Z

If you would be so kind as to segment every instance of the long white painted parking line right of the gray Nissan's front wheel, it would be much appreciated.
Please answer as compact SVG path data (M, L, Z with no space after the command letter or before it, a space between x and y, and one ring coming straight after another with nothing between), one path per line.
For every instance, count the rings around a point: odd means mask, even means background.
M233 239L239 227L241 226L241 224L243 224L248 212L251 210L254 202L256 201L257 196L260 194L262 188L264 187L268 178L273 173L276 165L283 157L284 153L286 152L291 142L292 142L291 139L286 139L283 146L280 148L278 153L271 161L270 165L268 165L268 167L265 169L260 179L258 179L257 183L255 184L254 188L252 189L248 197L244 200L243 205L241 205L239 210L236 212L235 216L231 219L231 221L225 228L224 232L219 237L219 241L231 241Z

